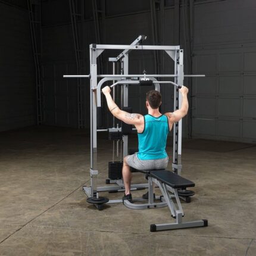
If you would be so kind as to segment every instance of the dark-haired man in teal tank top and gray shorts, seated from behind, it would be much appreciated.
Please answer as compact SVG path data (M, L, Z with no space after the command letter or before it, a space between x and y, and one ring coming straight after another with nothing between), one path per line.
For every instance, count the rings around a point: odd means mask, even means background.
M148 108L148 114L143 116L120 110L110 95L110 87L106 86L102 89L111 113L124 123L133 124L138 132L139 152L127 155L123 160L123 182L125 187L123 200L132 201L132 194L130 193L132 173L130 167L138 170L164 169L167 167L167 135L173 127L173 123L185 117L189 107L188 88L182 86L179 91L182 94L182 107L173 113L165 113L164 115L159 111L162 103L161 93L157 90L147 92L146 108ZM148 193L143 195L143 198L147 197Z

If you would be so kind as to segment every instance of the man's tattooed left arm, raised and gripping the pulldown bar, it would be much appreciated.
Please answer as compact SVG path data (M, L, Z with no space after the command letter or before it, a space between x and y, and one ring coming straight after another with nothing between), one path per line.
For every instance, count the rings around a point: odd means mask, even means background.
M110 94L111 89L109 86L105 86L102 89L102 92L104 93L107 99L108 108L114 115L114 117L120 119L124 123L133 124L135 126L143 123L143 115L134 113L131 114L127 113L126 111L120 110L120 108L117 106L117 104L115 104L115 102L112 99L112 96Z

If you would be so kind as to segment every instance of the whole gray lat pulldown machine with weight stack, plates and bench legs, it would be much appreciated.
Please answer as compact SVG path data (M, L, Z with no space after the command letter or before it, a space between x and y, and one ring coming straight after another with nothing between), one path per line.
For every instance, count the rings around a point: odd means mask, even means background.
M89 78L90 79L90 186L83 186L83 191L88 196L88 202L95 205L98 210L102 210L103 204L108 203L117 203L123 202L121 199L108 200L108 198L99 196L100 192L118 192L124 191L123 180L121 179L121 168L123 163L120 161L114 161L114 151L113 151L113 161L109 163L109 175L106 180L107 184L113 184L112 186L97 186L96 185L96 176L98 175L97 168L97 133L98 132L109 132L109 139L113 140L113 150L114 143L122 142L123 146L121 146L121 151L123 152L123 157L128 155L128 136L132 133L132 126L128 124L121 124L121 127L115 127L113 120L113 127L110 129L101 129L99 123L102 118L102 106L101 106L101 88L104 83L113 81L113 98L115 97L115 86L121 86L121 107L123 110L130 112L131 108L128 105L128 92L129 85L138 85L138 86L155 86L155 90L160 91L160 85L168 84L174 85L174 111L179 109L181 106L181 95L179 95L179 88L183 85L184 77L204 77L204 75L184 75L183 73L183 49L180 49L180 46L149 46L149 45L141 45L142 41L146 39L146 36L139 36L131 45L90 45L90 74L89 75L64 75L63 77L79 77L79 78ZM123 49L116 58L109 58L108 60L113 63L113 74L98 74L97 73L97 58L102 54L106 49ZM174 74L129 74L129 52L132 50L162 50L167 53L167 55L174 61ZM115 64L120 63L121 65L121 74L115 74ZM156 77L163 78L172 78L174 82L171 81L158 81ZM98 82L98 79L99 80ZM97 125L98 124L98 125ZM118 148L117 148L118 149ZM118 150L117 150L118 152ZM179 179L179 183L182 183L182 177L179 177L182 170L181 164L181 155L182 155L182 120L175 123L173 125L173 164L172 169L174 174L176 174L177 179ZM121 154L122 157L122 154ZM194 193L192 191L187 191L186 187L180 186L172 186L173 184L170 182L163 183L163 180L158 179L157 174L151 177L150 173L147 174L150 179L155 180L155 182L160 187L161 191L166 194L164 196L164 201L161 203L154 204L152 199L152 187L151 183L143 183L143 184L134 184L131 186L132 190L136 189L145 189L149 188L149 201L151 201L150 206L147 208L157 208L164 207L168 205L171 210L173 217L176 217L178 221L178 226L180 228L180 220L181 216L183 216L183 211L177 210L173 207L173 204L170 203L168 199L168 192L173 193L173 196L176 199L182 198L186 202L190 202ZM158 180L158 181L157 181ZM191 185L192 186L192 185ZM164 189L164 190L163 190ZM125 201L125 205L129 207L128 202ZM180 202L178 202L179 208L181 207ZM130 208L136 208L130 205ZM176 223L177 224L177 223ZM183 223L185 225L185 223ZM191 226L191 224L189 224ZM169 226L169 224L168 224ZM190 226L182 226L182 227L190 227ZM192 225L193 226L193 225ZM205 221L201 221L199 224L196 223L194 226L206 226ZM173 227L177 228L177 227ZM164 230L166 228L161 227L161 229L153 228L154 230Z

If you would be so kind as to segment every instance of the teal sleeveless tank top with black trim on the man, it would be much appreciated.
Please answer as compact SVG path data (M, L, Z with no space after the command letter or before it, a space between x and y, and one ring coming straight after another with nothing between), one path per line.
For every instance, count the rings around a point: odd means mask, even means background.
M144 116L144 130L138 133L139 160L155 160L166 158L166 141L169 133L168 117L160 115Z

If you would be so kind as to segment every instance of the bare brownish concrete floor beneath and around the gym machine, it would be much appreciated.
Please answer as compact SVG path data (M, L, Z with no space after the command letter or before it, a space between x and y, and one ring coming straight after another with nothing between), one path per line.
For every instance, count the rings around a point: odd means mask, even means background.
M182 203L185 219L208 218L209 226L151 233L150 224L173 221L167 208L98 211L86 202L89 138L81 130L29 127L0 141L0 255L256 255L255 146L185 141L183 176L196 183L191 204ZM99 139L101 185L109 160L111 143Z

